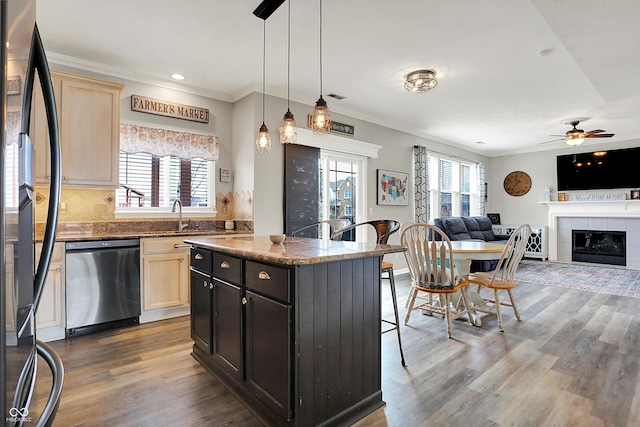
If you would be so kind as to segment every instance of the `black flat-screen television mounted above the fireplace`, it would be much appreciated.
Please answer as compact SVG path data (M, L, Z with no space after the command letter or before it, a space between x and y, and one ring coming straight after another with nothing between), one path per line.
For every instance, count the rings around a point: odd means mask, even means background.
M558 156L558 191L640 188L640 147Z

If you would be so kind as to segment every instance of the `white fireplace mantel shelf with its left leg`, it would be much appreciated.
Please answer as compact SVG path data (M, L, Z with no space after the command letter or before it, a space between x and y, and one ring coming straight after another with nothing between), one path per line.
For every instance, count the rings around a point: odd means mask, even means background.
M549 208L549 260L558 259L558 218L640 218L640 200L539 202Z

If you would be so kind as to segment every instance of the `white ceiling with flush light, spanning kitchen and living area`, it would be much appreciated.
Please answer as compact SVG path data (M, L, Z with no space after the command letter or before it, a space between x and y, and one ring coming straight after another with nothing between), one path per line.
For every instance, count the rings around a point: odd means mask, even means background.
M311 106L319 1L289 1L291 99ZM38 0L37 21L52 62L171 87L179 72L184 90L235 101L262 88L259 3ZM266 21L266 92L282 98L287 5ZM637 0L324 0L323 94L332 111L488 156L563 147L540 143L576 117L615 133L596 141L640 139L639 20ZM407 92L423 68L438 86Z

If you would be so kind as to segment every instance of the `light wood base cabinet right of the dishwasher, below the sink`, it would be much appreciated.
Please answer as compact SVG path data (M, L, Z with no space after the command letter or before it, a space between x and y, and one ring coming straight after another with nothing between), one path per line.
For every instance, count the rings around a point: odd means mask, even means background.
M141 240L141 322L189 313L189 245L184 237Z

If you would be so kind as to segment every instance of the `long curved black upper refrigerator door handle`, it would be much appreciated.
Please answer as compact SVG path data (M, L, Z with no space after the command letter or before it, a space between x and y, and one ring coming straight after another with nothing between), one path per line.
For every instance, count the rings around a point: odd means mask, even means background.
M47 112L47 125L49 128L49 145L51 155L51 181L49 187L49 208L47 213L47 224L42 242L42 253L38 260L38 268L34 278L34 311L37 312L40 304L40 297L47 278L47 270L51 263L51 255L56 238L56 228L58 225L58 206L60 204L60 182L61 182L61 155L58 141L58 113L56 111L55 95L53 93L53 83L51 72L47 63L47 57L36 24L31 38L31 51L29 53L29 63L25 74L24 97L22 104L21 131L29 134L29 124L31 121L31 99L33 96L33 82L35 71L40 77L40 86L44 95L44 105Z

